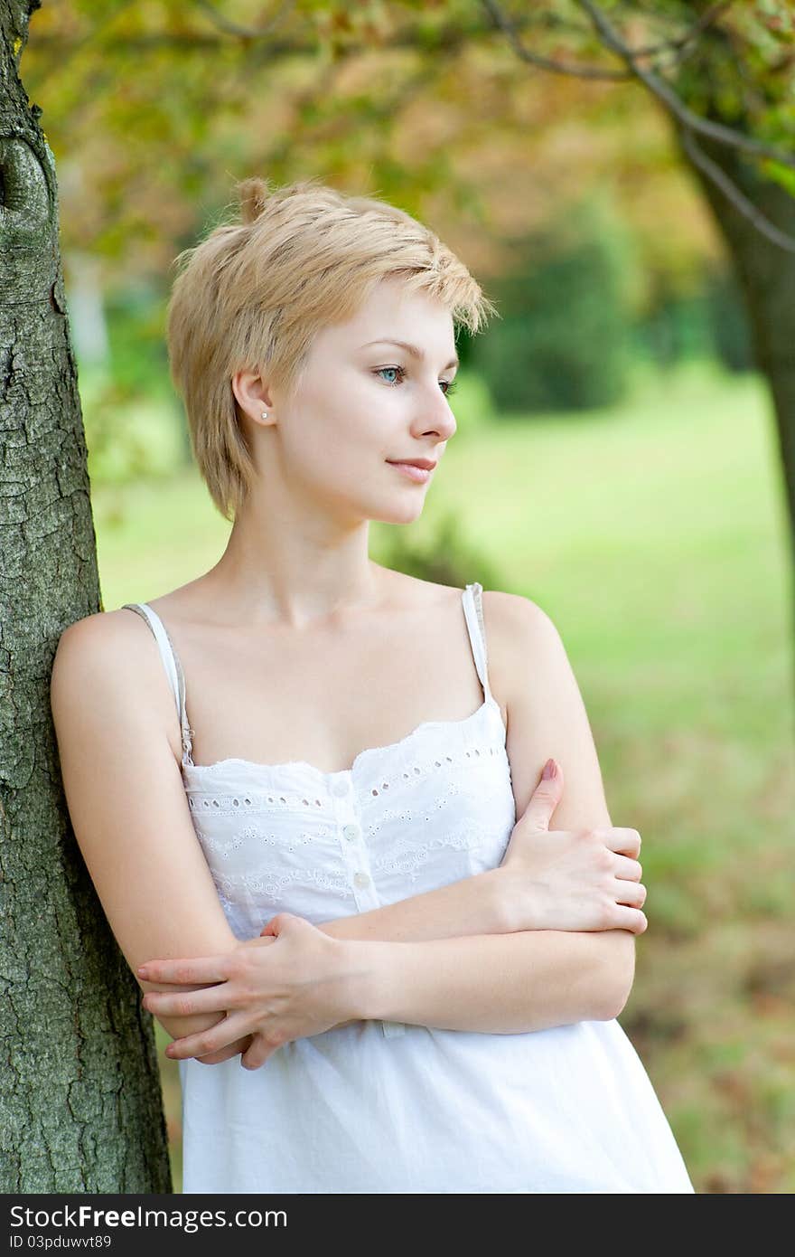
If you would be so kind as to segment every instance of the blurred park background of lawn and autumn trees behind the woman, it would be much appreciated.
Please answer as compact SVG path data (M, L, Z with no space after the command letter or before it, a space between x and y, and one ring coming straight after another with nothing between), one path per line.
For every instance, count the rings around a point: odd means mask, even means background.
M651 8L661 34L681 18ZM524 10L529 44L581 55L575 5ZM484 11L34 14L21 73L59 177L103 608L192 579L229 535L163 327L171 263L234 181L320 177L428 222L502 317L461 334L445 474L416 524L372 525L373 557L526 595L558 625L613 823L643 836L649 928L620 1023L698 1192L792 1192L792 593L767 381L661 109L524 64L473 33Z

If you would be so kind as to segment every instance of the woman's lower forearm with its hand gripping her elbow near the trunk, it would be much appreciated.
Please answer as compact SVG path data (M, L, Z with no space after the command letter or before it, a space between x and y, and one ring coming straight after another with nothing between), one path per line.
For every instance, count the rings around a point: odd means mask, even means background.
M259 1068L283 1043L338 1028L347 1019L411 1022L442 1029L515 1035L615 1017L610 987L589 934L531 930L426 943L333 941L300 916L279 913L268 947L232 957L152 960L160 980L212 978L222 985L190 996L148 994L146 1007L230 1011L229 1024L177 1040L176 1060L217 1056L244 1035L242 1055ZM333 952L329 950L333 949ZM252 998L251 993L256 992Z

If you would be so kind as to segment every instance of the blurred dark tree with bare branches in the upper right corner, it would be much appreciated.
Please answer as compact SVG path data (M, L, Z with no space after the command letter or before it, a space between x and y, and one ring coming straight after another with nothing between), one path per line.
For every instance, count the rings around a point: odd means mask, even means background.
M544 6L556 41L549 55L539 40L522 39L515 6L482 4L526 64L642 84L669 121L745 295L754 356L772 395L795 557L792 5L559 0ZM576 60L566 59L571 48ZM618 68L599 58L604 50ZM594 54L597 63L585 60Z

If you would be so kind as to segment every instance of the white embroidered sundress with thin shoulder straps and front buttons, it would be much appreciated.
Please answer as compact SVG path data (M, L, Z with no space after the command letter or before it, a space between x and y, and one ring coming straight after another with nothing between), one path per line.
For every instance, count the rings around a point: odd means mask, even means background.
M185 675L147 603L182 725L198 842L239 939L314 924L496 867L516 822L487 675L482 587L462 591L484 703L360 752L349 769L192 762ZM259 1070L180 1061L183 1193L692 1193L618 1021L514 1035L357 1022Z

